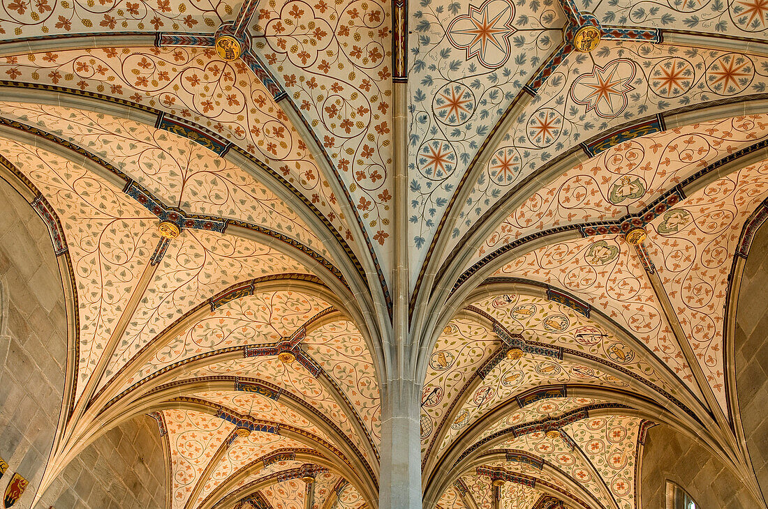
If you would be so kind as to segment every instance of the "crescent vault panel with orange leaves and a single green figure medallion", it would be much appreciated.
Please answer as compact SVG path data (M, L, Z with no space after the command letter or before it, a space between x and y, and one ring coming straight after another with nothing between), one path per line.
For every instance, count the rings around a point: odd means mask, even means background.
M768 136L768 117L695 123L605 150L539 189L498 225L472 264L534 232L634 214L694 172Z

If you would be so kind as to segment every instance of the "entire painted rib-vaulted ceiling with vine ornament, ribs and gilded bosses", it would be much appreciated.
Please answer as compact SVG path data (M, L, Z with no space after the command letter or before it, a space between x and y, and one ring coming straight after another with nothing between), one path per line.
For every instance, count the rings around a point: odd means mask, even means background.
M412 360L432 507L640 507L650 425L737 442L766 24L751 0L0 0L0 176L71 297L43 488L149 414L168 509L376 509Z

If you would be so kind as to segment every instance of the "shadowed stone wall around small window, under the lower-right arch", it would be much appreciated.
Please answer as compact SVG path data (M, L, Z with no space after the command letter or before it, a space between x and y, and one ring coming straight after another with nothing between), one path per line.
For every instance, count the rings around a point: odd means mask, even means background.
M667 480L687 491L700 509L763 507L706 448L667 425L657 425L648 430L643 450L643 509L666 509Z

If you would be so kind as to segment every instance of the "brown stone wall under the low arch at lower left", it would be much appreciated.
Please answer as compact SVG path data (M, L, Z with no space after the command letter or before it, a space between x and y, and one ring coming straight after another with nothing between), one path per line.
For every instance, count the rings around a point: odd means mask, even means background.
M74 458L35 509L163 509L167 486L157 422L142 415Z

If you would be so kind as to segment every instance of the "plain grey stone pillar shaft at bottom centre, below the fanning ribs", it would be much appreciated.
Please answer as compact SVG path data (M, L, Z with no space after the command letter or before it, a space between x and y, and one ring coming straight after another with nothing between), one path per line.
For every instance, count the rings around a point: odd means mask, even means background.
M422 509L421 387L395 379L382 394L379 509Z

